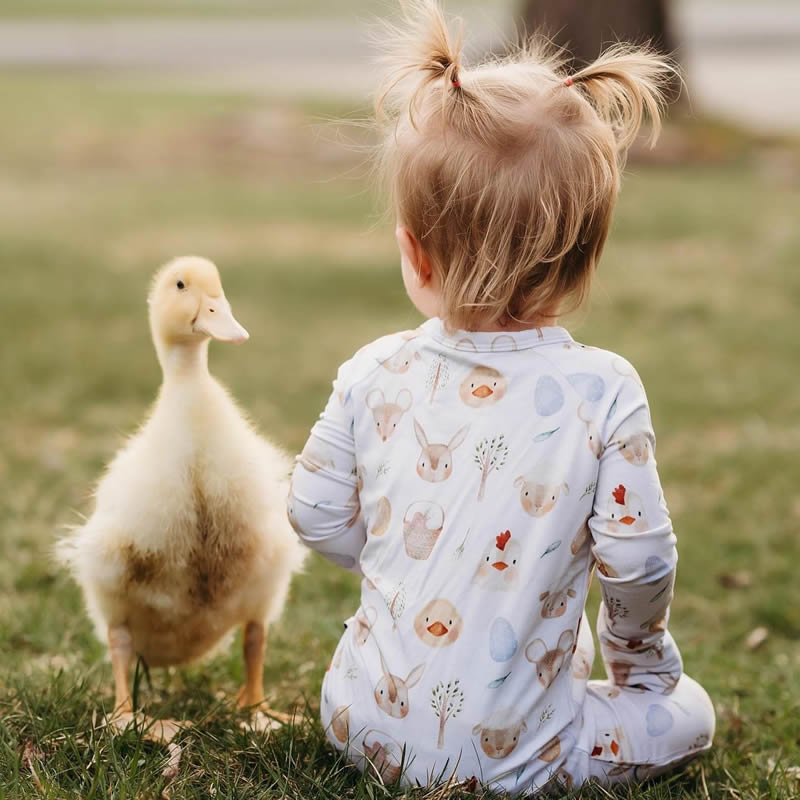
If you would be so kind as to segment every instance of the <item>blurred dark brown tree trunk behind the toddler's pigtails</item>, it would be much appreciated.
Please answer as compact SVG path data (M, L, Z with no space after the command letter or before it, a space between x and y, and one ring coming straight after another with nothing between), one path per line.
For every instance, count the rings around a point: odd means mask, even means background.
M572 56L572 67L594 61L617 41L649 42L672 53L668 0L521 0L526 36L542 33Z

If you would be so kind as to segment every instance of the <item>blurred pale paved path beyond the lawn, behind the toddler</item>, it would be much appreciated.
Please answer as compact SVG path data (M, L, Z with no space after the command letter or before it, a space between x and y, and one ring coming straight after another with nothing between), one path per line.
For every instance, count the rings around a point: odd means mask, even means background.
M503 18L469 30L498 43ZM800 130L800 3L677 6L692 101L762 130ZM268 93L363 96L374 88L369 30L343 20L0 22L0 67L67 67Z

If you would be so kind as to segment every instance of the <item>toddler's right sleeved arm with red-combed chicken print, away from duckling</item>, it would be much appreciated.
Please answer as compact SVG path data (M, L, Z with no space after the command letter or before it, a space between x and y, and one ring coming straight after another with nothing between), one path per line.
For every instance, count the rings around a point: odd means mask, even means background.
M623 364L622 359L617 364ZM590 529L603 603L597 633L617 685L670 692L683 672L667 630L678 554L644 388L628 372L606 421Z

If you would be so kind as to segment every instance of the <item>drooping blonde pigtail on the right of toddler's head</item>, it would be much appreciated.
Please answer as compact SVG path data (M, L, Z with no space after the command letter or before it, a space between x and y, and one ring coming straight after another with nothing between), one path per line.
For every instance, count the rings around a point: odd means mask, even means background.
M567 78L564 85L585 92L598 116L614 130L617 147L624 155L645 119L651 125L650 146L656 143L670 82L676 74L669 59L655 51L618 44Z

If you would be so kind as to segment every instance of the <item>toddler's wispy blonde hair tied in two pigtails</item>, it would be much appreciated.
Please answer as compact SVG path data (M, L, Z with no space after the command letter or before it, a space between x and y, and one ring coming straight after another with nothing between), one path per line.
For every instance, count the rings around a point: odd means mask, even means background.
M441 283L442 317L474 329L577 307L645 117L658 137L673 67L616 45L567 75L531 44L466 69L436 0L403 8L378 100L381 166Z

